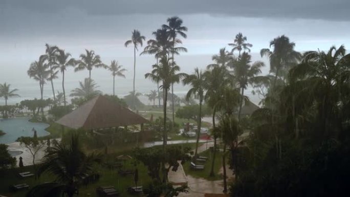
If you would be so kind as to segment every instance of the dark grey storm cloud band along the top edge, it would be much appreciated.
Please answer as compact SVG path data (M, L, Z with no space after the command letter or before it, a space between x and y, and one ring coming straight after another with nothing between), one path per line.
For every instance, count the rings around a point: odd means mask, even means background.
M1 7L48 13L74 8L92 15L211 14L350 20L349 0L2 0Z

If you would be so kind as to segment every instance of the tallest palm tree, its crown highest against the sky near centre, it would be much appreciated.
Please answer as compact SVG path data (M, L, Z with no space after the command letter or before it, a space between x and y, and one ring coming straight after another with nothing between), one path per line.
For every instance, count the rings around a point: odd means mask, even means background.
M171 39L172 42L172 48L171 48L171 58L172 61L174 61L174 53L178 53L179 51L187 52L186 48L183 47L178 47L177 49L175 48L176 42L178 41L181 43L181 40L178 39L178 35L182 36L183 38L187 38L186 31L187 27L182 26L182 19L173 16L167 19L168 25L163 25L162 28L166 29L168 32L168 36ZM171 84L171 101L172 101L172 124L175 123L175 112L174 112L174 89L173 89L173 84Z

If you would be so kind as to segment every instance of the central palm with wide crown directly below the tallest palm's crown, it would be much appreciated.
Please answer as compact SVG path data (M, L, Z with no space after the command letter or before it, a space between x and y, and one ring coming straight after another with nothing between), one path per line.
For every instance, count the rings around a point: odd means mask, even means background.
M172 83L179 83L182 78L186 76L185 73L178 73L180 67L174 62L171 61L171 58L164 56L160 59L159 64L152 65L153 70L150 73L145 74L145 78L160 78L162 85L160 86L163 89L163 113L164 113L164 122L163 122L163 148L167 144L167 126L166 126L166 104L168 98L168 91Z

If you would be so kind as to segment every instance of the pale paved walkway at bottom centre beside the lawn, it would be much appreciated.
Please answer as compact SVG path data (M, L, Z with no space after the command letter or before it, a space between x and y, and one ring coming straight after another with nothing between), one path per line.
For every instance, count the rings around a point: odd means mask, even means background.
M213 142L208 142L208 146L206 143L198 147L198 152L203 152L207 148L213 146ZM228 168L228 165L226 166L226 172L228 176L228 180L232 180L232 170ZM223 173L223 168L220 169L220 173ZM185 171L180 163L179 169L174 172L171 171L168 174L169 182L173 185L183 185L186 184L190 188L189 193L180 193L179 196L194 196L194 197L202 197L202 196L210 196L210 194L214 194L214 196L225 196L223 193L224 186L223 186L223 180L218 181L208 181L203 178L194 178L192 176L189 176L185 174ZM218 194L218 195L215 195ZM220 195L222 194L222 195Z

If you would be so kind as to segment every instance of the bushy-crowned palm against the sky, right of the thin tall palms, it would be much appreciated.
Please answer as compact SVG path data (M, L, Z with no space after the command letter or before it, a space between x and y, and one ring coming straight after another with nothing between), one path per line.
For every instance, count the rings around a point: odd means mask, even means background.
M276 86L277 77L280 72L289 70L300 59L301 54L294 51L295 43L290 42L289 38L285 35L278 36L270 41L270 48L274 47L273 51L270 49L261 49L260 55L268 56L270 58L270 73L275 73L275 79L273 87Z

